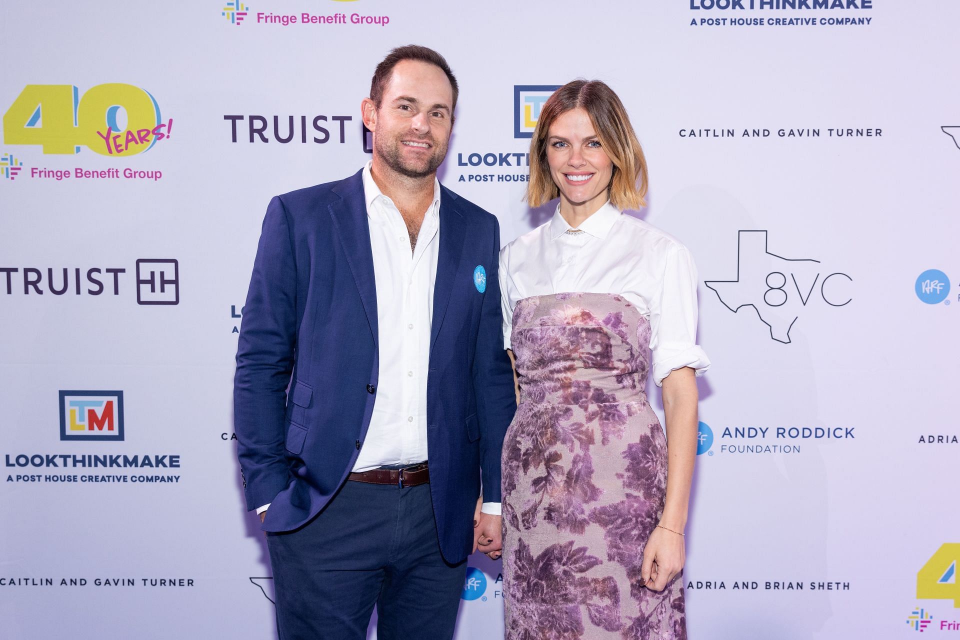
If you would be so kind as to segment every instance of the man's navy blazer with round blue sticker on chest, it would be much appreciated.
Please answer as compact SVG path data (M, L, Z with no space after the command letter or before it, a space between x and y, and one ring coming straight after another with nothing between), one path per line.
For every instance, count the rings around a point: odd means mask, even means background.
M444 558L472 548L480 496L500 501L500 449L516 410L503 348L496 218L441 187L427 376L430 494ZM477 267L486 288L474 283ZM399 321L399 320L397 320ZM317 515L360 453L376 400L378 342L362 172L267 207L237 348L233 419L248 510L289 532ZM482 474L481 474L482 470Z

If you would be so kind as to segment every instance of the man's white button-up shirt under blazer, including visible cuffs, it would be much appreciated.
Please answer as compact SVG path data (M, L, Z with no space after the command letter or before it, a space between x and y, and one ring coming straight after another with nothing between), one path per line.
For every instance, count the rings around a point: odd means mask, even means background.
M426 379L440 249L440 182L434 178L433 201L411 251L403 216L373 180L371 165L364 167L363 188L376 283L380 367L370 427L354 472L427 461ZM484 503L482 510L499 514L500 503Z

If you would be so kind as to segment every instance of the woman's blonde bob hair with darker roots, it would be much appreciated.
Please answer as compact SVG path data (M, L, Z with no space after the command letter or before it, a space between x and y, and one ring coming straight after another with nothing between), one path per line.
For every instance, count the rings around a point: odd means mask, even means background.
M540 109L537 129L530 141L530 181L527 202L542 206L560 196L546 161L547 141L553 122L575 108L587 111L603 150L613 162L607 187L613 206L619 210L638 209L646 204L647 161L636 139L630 116L613 89L599 80L575 80L553 92Z

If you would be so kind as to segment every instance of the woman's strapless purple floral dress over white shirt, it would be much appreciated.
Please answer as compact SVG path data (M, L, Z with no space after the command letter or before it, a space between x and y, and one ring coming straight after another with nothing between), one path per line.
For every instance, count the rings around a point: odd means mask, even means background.
M516 304L520 406L503 447L508 640L685 640L683 577L642 585L666 440L647 402L650 324L622 296Z

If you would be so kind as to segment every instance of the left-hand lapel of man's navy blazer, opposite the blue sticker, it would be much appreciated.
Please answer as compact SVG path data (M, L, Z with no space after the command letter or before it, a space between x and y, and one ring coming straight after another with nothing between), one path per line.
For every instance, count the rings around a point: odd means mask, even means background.
M376 280L373 274L373 252L370 247L370 221L367 219L367 201L363 191L363 170L343 180L333 188L341 197L329 205L333 227L344 246L347 264L360 292L367 321L378 347L376 322Z

